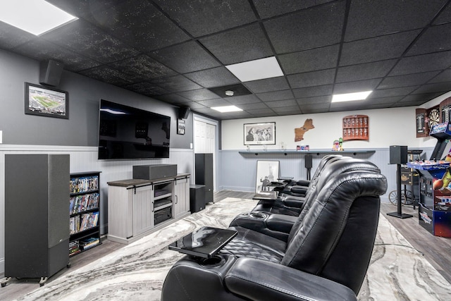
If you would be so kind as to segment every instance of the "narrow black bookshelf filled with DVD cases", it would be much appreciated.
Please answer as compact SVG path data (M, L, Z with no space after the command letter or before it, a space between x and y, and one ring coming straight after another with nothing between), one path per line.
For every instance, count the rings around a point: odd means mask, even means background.
M101 244L100 171L71 173L69 181L69 256Z

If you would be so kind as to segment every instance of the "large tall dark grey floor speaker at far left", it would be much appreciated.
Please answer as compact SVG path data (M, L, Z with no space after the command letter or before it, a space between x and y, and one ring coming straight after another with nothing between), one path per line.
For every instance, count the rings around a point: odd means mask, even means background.
M69 155L5 155L5 276L41 278L69 264Z

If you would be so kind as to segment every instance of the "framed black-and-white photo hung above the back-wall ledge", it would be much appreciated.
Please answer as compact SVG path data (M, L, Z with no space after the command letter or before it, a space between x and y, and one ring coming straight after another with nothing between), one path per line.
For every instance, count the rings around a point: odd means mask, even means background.
M245 145L275 145L276 123L245 123Z

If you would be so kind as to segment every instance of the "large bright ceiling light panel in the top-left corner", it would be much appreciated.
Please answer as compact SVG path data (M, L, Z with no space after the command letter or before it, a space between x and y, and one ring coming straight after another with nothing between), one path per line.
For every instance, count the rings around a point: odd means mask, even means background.
M0 20L33 35L42 35L78 18L44 0L3 0Z

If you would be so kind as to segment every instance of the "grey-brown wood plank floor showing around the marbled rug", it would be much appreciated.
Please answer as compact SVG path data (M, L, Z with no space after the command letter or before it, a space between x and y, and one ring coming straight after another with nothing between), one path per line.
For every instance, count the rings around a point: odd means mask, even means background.
M222 190L215 192L214 201L218 202L226 197L237 197L243 199L251 199L254 195L253 192L236 192L230 190ZM412 214L414 217L409 219L398 219L393 216L387 216L388 212L397 211L397 208L393 204L383 203L381 205L381 213L383 213L388 221L397 228L398 231L406 238L410 244L430 262L435 269L437 269L443 277L451 283L451 238L439 238L428 233L424 228L419 226L418 222L418 209L414 210L412 206L402 207L402 213ZM66 274L73 269L79 269L90 262L104 257L106 254L118 250L118 248L124 247L118 242L111 242L111 240L102 240L102 244L92 248L89 252L80 253L70 258L70 268L63 269L57 274L49 278L48 283L58 278L63 274ZM407 254L407 253L406 253ZM0 275L3 278L3 275ZM26 293L35 290L39 287L36 281L17 281L13 280L8 283L4 288L0 288L0 300L13 300Z

